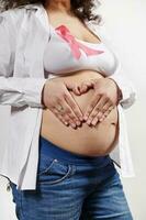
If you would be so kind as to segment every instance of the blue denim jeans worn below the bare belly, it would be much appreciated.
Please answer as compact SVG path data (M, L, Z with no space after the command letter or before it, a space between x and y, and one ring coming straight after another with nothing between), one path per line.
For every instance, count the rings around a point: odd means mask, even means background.
M46 152L42 141L36 190L18 190L11 182L20 220L132 220L120 175L112 160L97 166L68 162ZM61 151L61 150L59 150ZM63 150L63 153L66 153ZM68 152L67 152L68 154ZM69 153L70 154L70 153ZM74 155L74 154L72 154ZM83 160L82 160L83 161ZM97 162L98 163L98 162Z

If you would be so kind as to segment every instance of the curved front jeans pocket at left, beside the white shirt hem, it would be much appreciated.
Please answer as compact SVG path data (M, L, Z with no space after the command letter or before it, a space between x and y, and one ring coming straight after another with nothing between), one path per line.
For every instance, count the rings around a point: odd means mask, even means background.
M40 155L37 183L47 185L60 183L70 176L71 167L71 165L64 164L57 158Z

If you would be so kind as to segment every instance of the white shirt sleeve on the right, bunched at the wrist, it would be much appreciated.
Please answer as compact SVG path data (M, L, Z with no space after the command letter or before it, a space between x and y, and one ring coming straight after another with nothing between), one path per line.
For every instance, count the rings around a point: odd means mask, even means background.
M136 100L137 90L135 88L135 85L124 73L122 64L117 56L116 47L113 44L113 41L109 35L105 26L101 25L100 28L97 28L97 34L100 35L101 40L108 45L116 59L116 70L112 75L108 76L108 78L111 78L116 84L117 88L120 89L120 94L122 95L119 103L124 109L127 109Z

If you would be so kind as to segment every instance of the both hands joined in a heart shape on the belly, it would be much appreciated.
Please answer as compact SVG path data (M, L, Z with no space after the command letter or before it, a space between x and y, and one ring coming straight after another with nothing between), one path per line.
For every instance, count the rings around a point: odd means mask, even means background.
M57 82L57 86L56 86ZM93 96L87 106L85 114L76 103L69 90L76 96L93 89ZM48 108L64 124L74 129L86 121L88 125L102 122L115 106L119 105L122 92L116 82L108 77L83 80L80 84L60 81L53 78L46 82L43 94L43 105Z

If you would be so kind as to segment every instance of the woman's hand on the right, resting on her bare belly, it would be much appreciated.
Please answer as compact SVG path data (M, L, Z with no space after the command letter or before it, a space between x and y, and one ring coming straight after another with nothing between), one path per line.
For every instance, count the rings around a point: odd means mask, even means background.
M111 78L89 79L75 89L76 95L87 92L93 88L94 94L87 107L83 119L90 125L97 125L98 121L103 121L111 110L117 105L119 87Z

